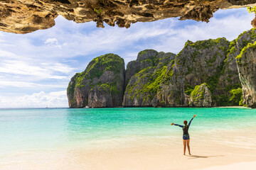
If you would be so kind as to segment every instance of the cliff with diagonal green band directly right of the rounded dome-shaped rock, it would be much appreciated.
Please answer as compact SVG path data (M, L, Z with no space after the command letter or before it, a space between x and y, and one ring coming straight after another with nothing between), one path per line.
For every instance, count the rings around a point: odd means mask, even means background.
M155 50L139 52L137 60L127 64L123 106L156 106L156 91L164 77L166 65L175 56L171 52Z

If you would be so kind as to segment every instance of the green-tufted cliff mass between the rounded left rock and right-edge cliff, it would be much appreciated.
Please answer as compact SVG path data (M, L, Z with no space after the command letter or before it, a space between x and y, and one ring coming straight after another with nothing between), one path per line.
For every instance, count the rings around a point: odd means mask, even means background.
M164 62L159 56L164 53L139 52L137 60L127 64L123 105L238 106L242 93L238 93L241 84L235 57L240 53L240 44L247 40L240 37L231 43L225 38L188 40L178 55L172 54ZM199 87L206 96L195 97Z

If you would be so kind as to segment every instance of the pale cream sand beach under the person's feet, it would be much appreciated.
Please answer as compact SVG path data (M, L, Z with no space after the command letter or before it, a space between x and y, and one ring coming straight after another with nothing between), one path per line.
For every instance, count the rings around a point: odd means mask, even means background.
M183 156L177 138L100 141L52 151L31 151L0 157L1 170L222 170L256 167L254 130L191 134L191 156ZM136 139L136 137L134 138Z

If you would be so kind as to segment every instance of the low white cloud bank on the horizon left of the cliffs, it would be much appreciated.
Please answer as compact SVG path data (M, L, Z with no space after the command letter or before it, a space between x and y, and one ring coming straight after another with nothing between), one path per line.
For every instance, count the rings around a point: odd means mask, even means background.
M67 107L66 91L46 94L44 91L31 95L6 97L0 96L0 108L55 108Z

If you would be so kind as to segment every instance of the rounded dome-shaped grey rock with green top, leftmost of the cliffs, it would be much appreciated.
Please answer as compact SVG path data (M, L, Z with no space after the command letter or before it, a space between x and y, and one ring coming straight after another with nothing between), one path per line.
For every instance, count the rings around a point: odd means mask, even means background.
M122 106L124 60L114 54L96 57L71 79L67 94L70 108Z

